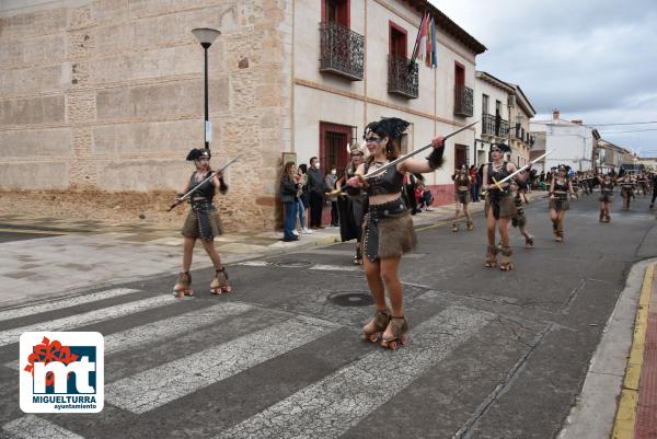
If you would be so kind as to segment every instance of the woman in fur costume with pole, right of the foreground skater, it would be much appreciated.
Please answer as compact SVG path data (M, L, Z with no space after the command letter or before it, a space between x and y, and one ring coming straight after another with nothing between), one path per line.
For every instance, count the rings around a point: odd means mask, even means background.
M509 190L509 182L497 184L506 176L516 172L514 163L504 161L505 152L510 152L506 145L493 145L491 147L491 163L483 169L483 188L486 190L486 204L484 211L486 215L486 229L488 238L488 249L486 251L486 267L497 265L497 247L495 246L495 228L499 229L502 238L502 264L499 269L508 272L514 268L511 264L511 247L509 245L509 223L516 215L516 205L514 196ZM522 183L529 177L530 169L521 172L516 178Z

